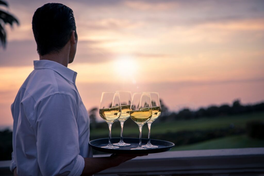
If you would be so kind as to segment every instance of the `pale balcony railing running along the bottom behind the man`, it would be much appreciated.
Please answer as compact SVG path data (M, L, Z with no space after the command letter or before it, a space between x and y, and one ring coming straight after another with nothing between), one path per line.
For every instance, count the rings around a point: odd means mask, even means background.
M95 155L102 157L107 155ZM0 161L0 175L12 175ZM264 148L168 151L127 161L95 175L263 175Z

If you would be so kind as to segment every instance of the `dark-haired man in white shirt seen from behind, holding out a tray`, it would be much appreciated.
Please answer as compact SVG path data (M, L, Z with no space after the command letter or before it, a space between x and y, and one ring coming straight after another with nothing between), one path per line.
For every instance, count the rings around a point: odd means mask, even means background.
M77 47L73 11L59 3L38 8L32 29L40 60L11 105L11 171L18 175L92 175L135 155L92 158L89 118L67 68Z

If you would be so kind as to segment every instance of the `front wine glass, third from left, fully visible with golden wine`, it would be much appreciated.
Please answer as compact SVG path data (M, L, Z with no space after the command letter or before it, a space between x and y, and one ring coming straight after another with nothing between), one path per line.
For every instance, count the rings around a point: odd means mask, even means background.
M142 127L152 116L150 94L142 92L133 93L129 114L130 118L139 126L139 145L137 148L131 150L142 150L144 149L141 146Z

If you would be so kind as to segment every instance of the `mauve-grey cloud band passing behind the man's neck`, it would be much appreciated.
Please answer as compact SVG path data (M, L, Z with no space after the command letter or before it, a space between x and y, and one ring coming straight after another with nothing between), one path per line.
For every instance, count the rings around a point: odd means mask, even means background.
M79 41L75 63L95 63L111 60L115 54L97 46L104 41ZM36 42L31 40L10 41L7 48L0 49L0 66L28 66L32 65L33 60L39 60L36 51Z

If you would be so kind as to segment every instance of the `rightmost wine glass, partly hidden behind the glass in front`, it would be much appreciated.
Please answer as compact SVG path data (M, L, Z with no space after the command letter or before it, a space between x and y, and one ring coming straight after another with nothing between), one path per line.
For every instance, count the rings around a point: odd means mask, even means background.
M158 92L147 92L147 93L150 94L151 105L152 105L152 117L147 122L148 129L149 129L149 131L148 131L148 143L146 145L143 145L143 148L155 149L155 148L158 148L158 146L152 145L150 143L150 127L151 127L151 124L161 115L161 105L159 102Z

